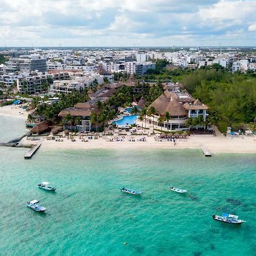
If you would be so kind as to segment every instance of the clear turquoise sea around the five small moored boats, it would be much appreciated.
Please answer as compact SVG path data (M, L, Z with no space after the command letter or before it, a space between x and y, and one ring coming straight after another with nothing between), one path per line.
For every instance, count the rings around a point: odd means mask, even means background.
M23 121L0 117L0 141L24 131ZM39 149L25 160L26 152L0 147L0 255L256 255L255 154ZM33 199L46 213L26 207ZM212 219L222 212L246 223Z

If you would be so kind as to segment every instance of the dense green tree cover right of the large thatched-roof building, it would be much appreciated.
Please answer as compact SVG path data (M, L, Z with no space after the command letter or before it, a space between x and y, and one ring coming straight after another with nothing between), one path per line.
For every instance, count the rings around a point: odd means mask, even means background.
M160 72L148 72L141 79L181 82L193 97L209 106L210 117L214 117L222 132L227 126L242 127L256 117L254 72L230 73L213 64L196 70L162 68Z

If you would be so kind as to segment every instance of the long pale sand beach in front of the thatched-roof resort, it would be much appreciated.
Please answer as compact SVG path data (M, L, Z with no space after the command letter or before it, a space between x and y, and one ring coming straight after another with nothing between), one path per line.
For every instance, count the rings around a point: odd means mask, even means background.
M24 142L27 143L26 138ZM221 152L236 152L236 153L256 153L256 138L251 137L237 137L231 139L230 137L217 137L212 135L192 135L187 139L177 139L177 144L174 142L158 142L154 140L154 137L146 137L146 142L130 142L118 141L118 142L106 142L105 138L92 139L88 142L81 142L79 138L76 138L75 142L67 138L63 138L63 142L48 141L46 139L41 140L42 150L61 150L61 149L90 149L90 148L109 148L118 149L125 148L133 150L135 149L157 149L157 148L200 148L203 144L208 148L211 153Z

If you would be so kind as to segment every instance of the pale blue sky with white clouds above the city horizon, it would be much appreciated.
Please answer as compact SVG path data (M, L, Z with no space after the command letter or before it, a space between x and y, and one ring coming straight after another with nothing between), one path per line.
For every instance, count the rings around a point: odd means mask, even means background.
M255 46L256 0L0 0L5 46Z

